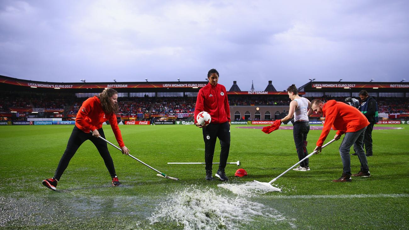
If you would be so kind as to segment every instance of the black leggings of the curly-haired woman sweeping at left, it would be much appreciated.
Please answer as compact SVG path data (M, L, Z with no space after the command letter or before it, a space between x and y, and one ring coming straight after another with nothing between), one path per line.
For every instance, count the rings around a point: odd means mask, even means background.
M98 132L101 137L105 138L102 128L98 129ZM111 155L109 154L106 142L101 140L100 138L92 136L92 133L84 133L83 131L78 129L77 126L74 126L70 139L68 139L67 148L65 149L64 154L61 157L60 162L58 163L54 178L60 180L60 177L61 175L63 175L65 169L70 163L71 158L74 156L75 152L81 146L81 144L86 140L90 140L95 145L95 147L97 147L99 154L105 162L105 166L108 169L111 177L113 178L117 175L115 173L114 162L112 161Z

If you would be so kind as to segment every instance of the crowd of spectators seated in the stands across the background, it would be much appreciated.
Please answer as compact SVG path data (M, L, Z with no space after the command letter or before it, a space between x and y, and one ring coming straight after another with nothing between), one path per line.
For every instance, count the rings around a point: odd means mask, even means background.
M9 108L45 108L46 110L65 109L65 114L76 114L81 107L84 97L66 95L44 95L44 94L13 94L1 92L0 112L10 112ZM334 99L344 101L345 97L307 97L321 99L326 102ZM359 98L357 98L359 99ZM409 113L409 99L402 97L379 97L379 113ZM169 113L194 113L196 97L119 97L120 114L169 114ZM361 102L361 101L360 101ZM288 106L290 99L280 97L242 97L233 96L229 98L230 106ZM152 110L151 110L152 108Z

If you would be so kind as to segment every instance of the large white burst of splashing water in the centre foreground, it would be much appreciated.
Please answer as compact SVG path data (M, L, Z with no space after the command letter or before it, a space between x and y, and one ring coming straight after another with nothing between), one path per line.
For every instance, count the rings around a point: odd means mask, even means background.
M254 217L268 218L268 221L286 221L295 228L277 210L261 203L246 200L243 196L230 198L216 194L213 189L201 191L186 188L182 192L170 194L169 200L161 203L149 218L151 224L163 221L175 221L184 225L184 229L238 229L241 223L249 223ZM258 219L257 218L257 219Z

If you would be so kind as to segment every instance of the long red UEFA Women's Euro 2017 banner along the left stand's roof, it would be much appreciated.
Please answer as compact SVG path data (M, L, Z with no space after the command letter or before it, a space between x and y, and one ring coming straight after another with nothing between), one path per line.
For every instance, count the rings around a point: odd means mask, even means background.
M78 88L202 88L207 82L192 81L188 83L149 83L149 82L115 82L115 83L58 83L58 82L41 82L27 81L11 77L0 76L0 82L16 85L27 86L32 88L60 88L60 89L78 89Z

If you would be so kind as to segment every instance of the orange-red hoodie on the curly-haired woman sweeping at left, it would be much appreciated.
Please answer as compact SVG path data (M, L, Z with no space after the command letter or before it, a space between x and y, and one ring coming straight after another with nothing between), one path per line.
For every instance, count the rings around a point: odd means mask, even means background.
M119 144L119 147L124 147L124 141L122 140L121 131L118 127L117 116L113 114L110 117L105 117L105 113L101 107L101 101L97 96L86 99L81 108L78 110L75 126L81 129L85 133L89 133L95 129L101 129L102 123L109 120L112 131L115 134L115 138Z

